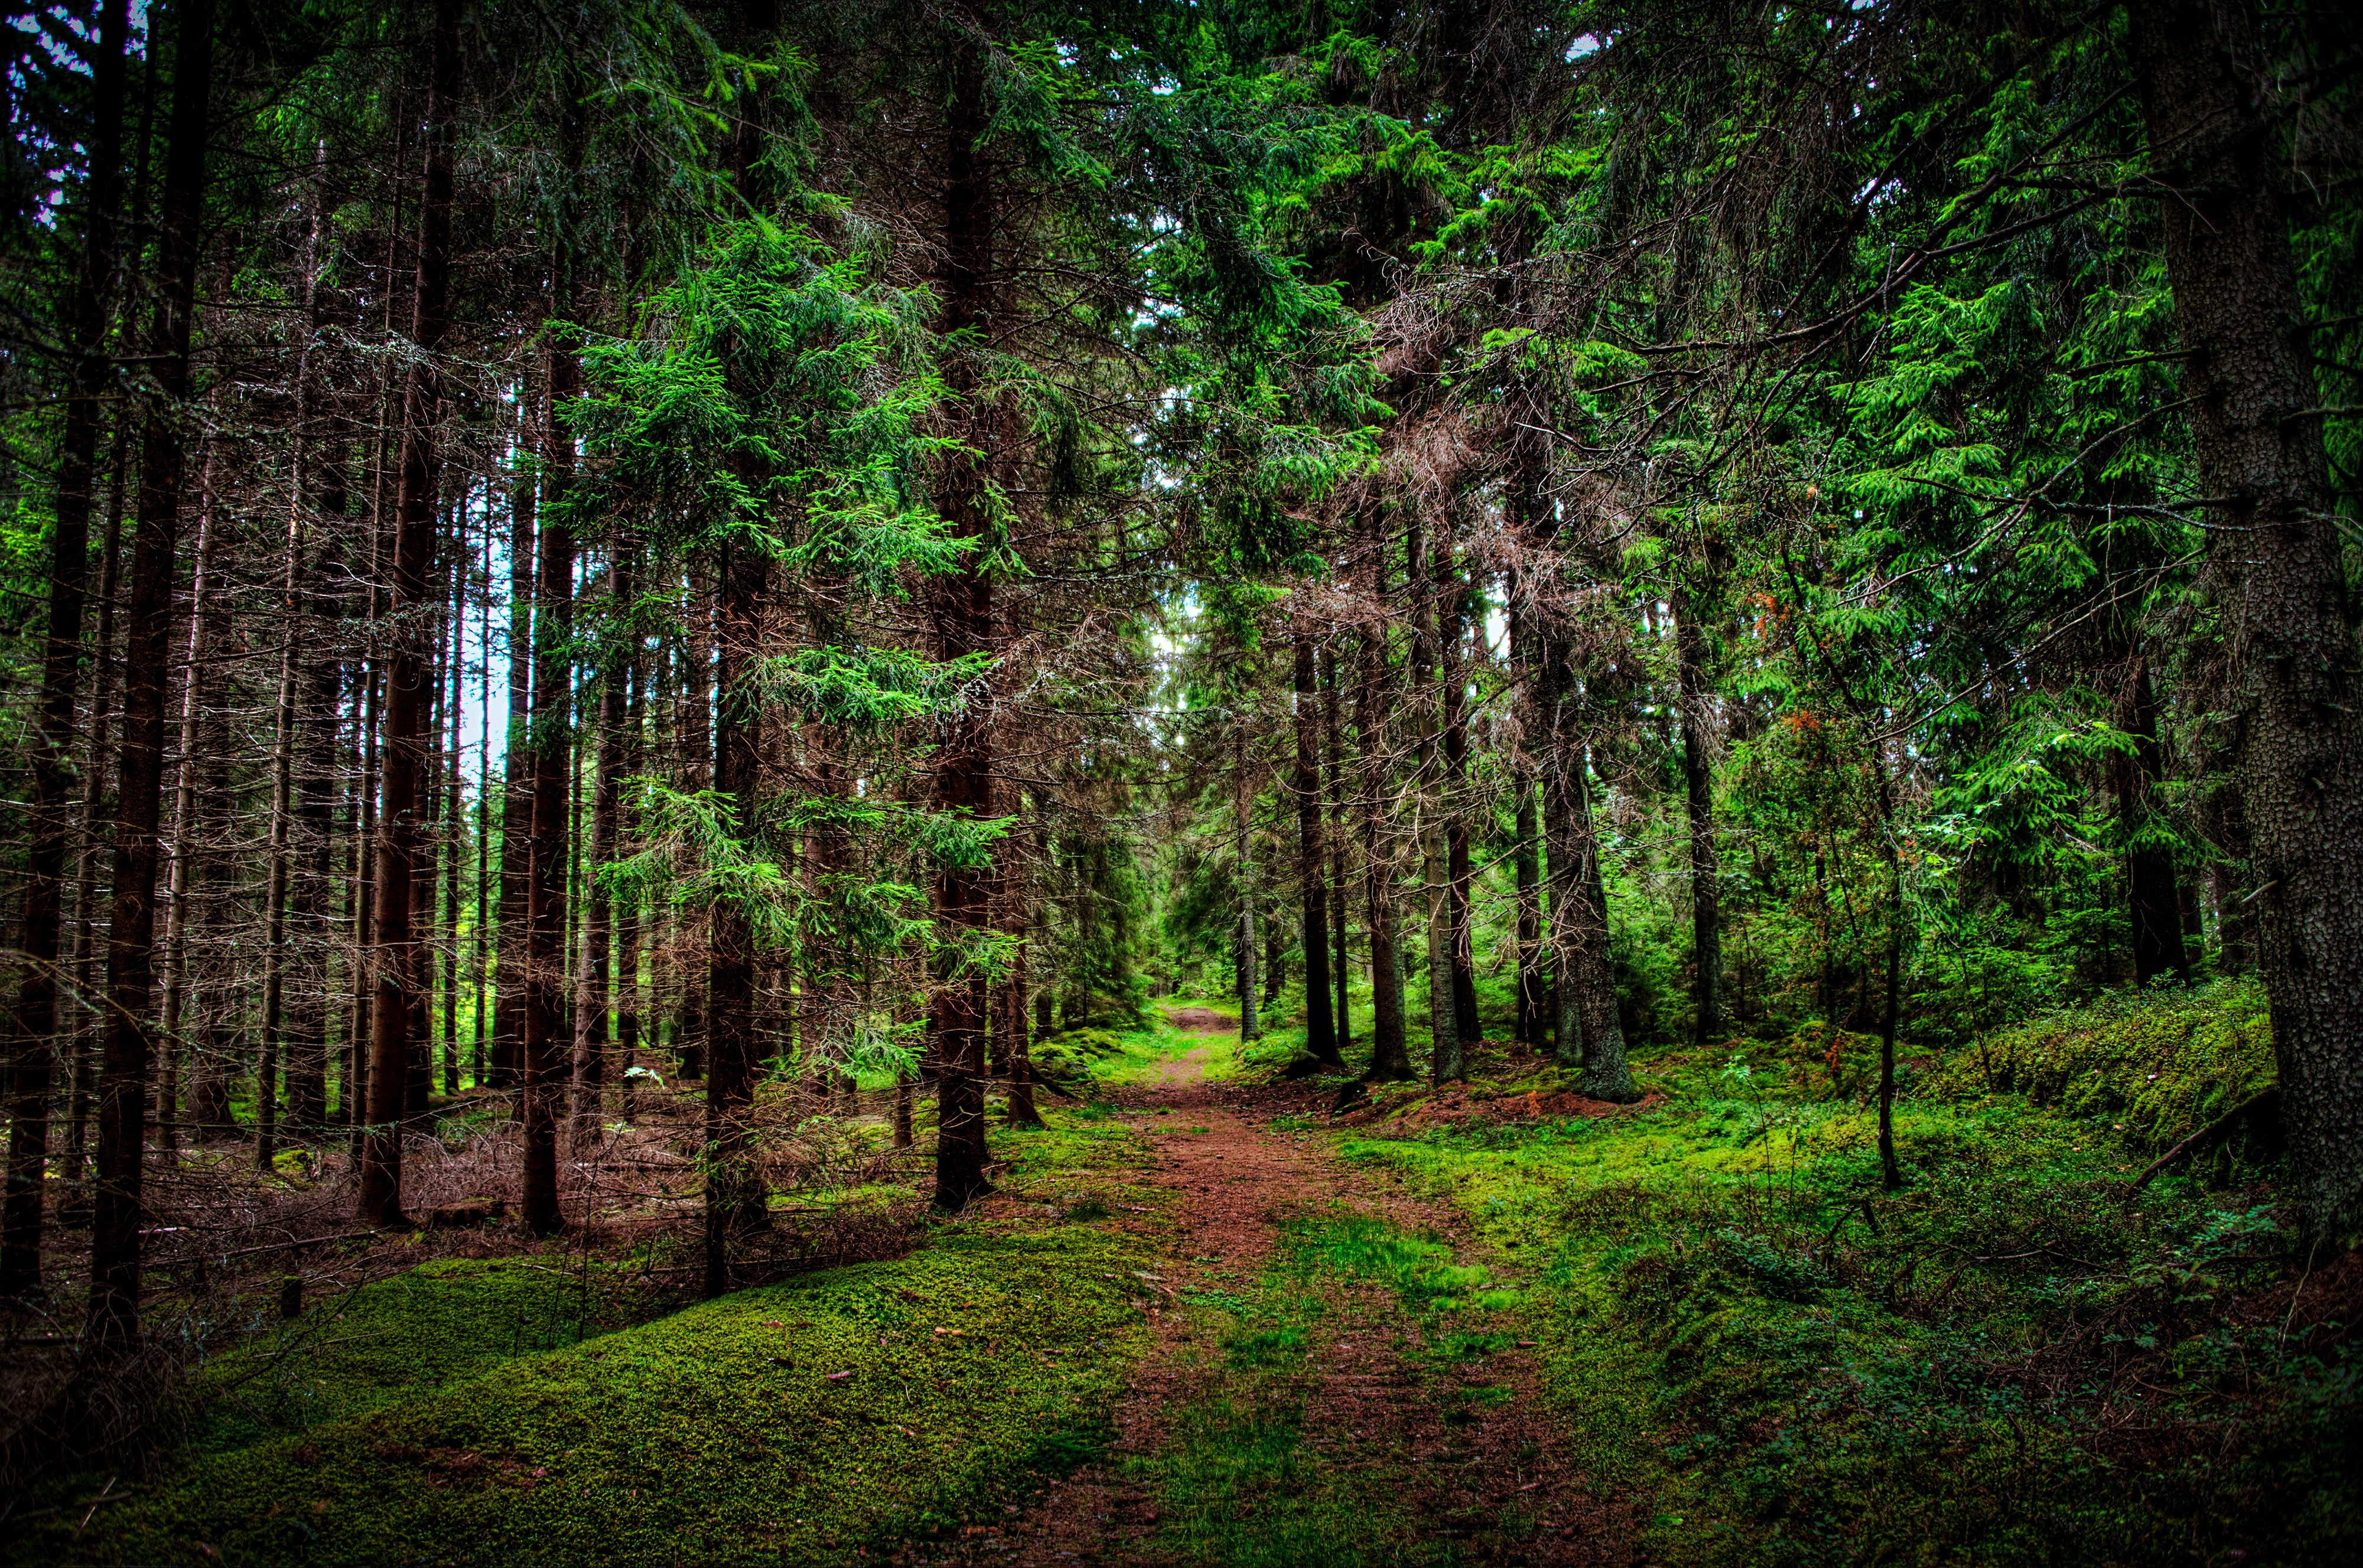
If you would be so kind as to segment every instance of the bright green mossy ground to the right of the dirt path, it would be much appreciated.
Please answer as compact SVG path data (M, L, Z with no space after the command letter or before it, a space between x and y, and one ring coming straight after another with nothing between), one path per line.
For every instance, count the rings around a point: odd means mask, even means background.
M1538 1270L1545 1389L1652 1561L2358 1561L2354 1292L2294 1313L2238 1155L2129 1197L2268 1079L2259 1015L2221 985L1914 1060L1897 1193L1876 1041L1822 1032L1645 1058L1649 1110L1340 1152Z

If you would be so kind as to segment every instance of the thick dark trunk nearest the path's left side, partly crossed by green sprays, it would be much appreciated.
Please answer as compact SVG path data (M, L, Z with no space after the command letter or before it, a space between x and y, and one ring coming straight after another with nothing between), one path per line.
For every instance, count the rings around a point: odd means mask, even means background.
M978 406L985 392L981 342L992 340L992 234L997 203L992 163L978 151L985 135L985 71L976 38L950 40L952 92L943 135L943 264L938 288L943 314L938 333L945 342L943 380L957 423L976 458L948 456L938 470L936 512L957 538L985 536L985 475L992 460L990 411ZM962 659L985 652L992 633L992 576L983 550L962 557L959 571L929 583L929 654ZM929 805L938 812L983 815L992 791L992 732L985 713L962 711L929 779ZM971 869L936 871L936 919L945 940L962 942L983 935L988 921L988 874ZM983 978L940 985L929 1013L936 1077L936 1207L966 1209L992 1190L985 1181L985 982Z

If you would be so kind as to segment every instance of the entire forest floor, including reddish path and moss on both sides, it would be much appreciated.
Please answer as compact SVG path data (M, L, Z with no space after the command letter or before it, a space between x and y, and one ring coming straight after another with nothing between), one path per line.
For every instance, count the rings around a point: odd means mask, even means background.
M1482 1041L1340 1110L1210 1001L1063 1037L957 1216L924 1108L780 1093L714 1301L685 1086L600 1226L328 1233L288 1320L284 1263L182 1285L172 1440L0 1497L0 1566L2358 1561L2363 1254L2292 1252L2266 1150L2134 1183L2271 1082L2252 985L1907 1060L1900 1190L1876 1039L1645 1051L1635 1105Z

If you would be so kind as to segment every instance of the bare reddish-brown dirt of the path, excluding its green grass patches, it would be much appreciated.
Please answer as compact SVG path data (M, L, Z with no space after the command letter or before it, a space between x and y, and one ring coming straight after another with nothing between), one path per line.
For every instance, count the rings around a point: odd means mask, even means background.
M1203 1082L1207 1048L1172 1063L1148 1089L1111 1096L1148 1136L1151 1181L1182 1202L1182 1235L1167 1289L1252 1292L1271 1259L1281 1223L1300 1216L1361 1214L1406 1230L1451 1230L1432 1211L1342 1167L1314 1136L1269 1131L1283 1110L1311 1105L1321 1091ZM1167 1115L1158 1115L1167 1112ZM1475 1365L1423 1355L1420 1322L1389 1289L1330 1289L1319 1337L1302 1370L1250 1389L1207 1344L1212 1313L1153 1313L1156 1348L1115 1410L1106 1459L1047 1488L1026 1511L995 1525L971 1525L964 1540L922 1547L903 1563L1630 1563L1614 1521L1567 1471L1564 1438L1536 1398L1529 1351L1508 1348ZM1274 1518L1288 1497L1231 1495L1174 1504L1170 1455L1203 1443L1207 1410L1278 1389L1302 1431L1300 1464L1314 1490L1371 1495L1392 1523L1368 1540L1321 1537L1314 1554L1259 1537L1257 1509ZM1160 1488L1160 1471L1165 1481ZM1184 1488L1186 1490L1186 1488ZM1285 1490L1285 1488L1283 1488ZM1163 1500L1163 1502L1160 1502ZM1160 1507L1170 1516L1160 1518ZM1210 1507L1222 1518L1210 1518ZM1359 1518L1352 1507L1347 1518ZM1285 1523L1285 1521L1281 1521ZM1281 1528L1274 1523L1274 1528ZM1295 1521L1300 1533L1304 1521ZM1345 1533L1340 1533L1345 1535Z

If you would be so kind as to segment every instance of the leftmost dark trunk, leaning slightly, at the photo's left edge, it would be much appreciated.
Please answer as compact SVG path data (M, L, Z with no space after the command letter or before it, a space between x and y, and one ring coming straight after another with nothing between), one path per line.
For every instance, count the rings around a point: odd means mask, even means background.
M90 581L90 498L97 484L99 399L106 392L106 276L123 196L123 43L128 0L99 12L90 83L90 175L83 187L83 255L66 307L73 366L57 453L57 520L50 529L50 626L40 659L33 734L33 803L24 867L24 968L17 1037L9 1041L7 1197L0 1202L0 1296L40 1282L43 1188L50 1162L50 1060L57 1037L59 912L66 838L73 831L73 694L83 671L83 600ZM102 649L104 654L104 649Z

